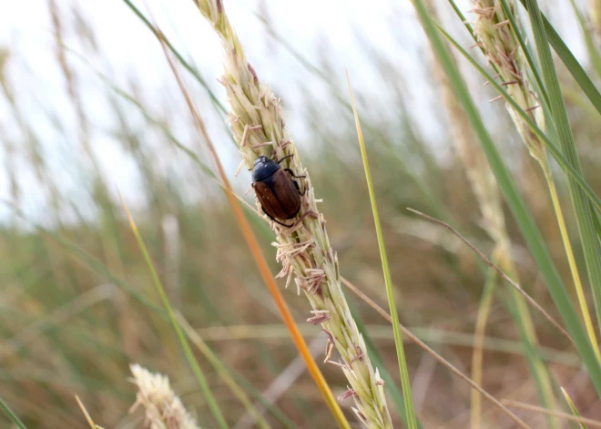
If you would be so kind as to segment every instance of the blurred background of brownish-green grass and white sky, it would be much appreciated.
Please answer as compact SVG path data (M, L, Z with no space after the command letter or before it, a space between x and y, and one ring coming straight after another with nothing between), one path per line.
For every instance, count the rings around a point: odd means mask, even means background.
M260 80L281 97L288 131L317 198L324 201L321 209L342 275L387 308L344 78L349 70L401 321L470 373L484 271L448 231L406 208L450 222L486 254L493 243L454 148L441 79L413 5L389 0L224 3ZM586 65L572 6L558 3L541 7ZM128 381L129 363L167 374L199 425L214 425L171 327L148 308L159 305L158 296L117 189L173 307L224 363L263 392L298 360L223 192L207 172L212 164L204 142L161 47L130 5L120 0L0 5L0 397L31 428L84 427L75 394L103 427L142 427L139 410L128 414L136 395ZM229 179L243 195L250 173L234 177L239 155L223 120L227 100L217 81L222 73L217 36L190 1L133 5L157 23L192 66L196 77L183 74L188 91ZM468 2L458 5L469 19ZM446 2L432 7L463 47L473 45ZM474 56L485 64L478 52ZM542 174L503 101L489 103L494 91L459 64L558 269L569 280ZM600 189L601 123L572 77L561 66L558 73L585 177ZM565 183L558 185L564 198ZM245 198L252 203L251 192ZM521 283L555 314L506 214ZM569 228L576 229L572 214L566 216ZM256 218L254 226L275 274L280 267L271 232ZM580 262L581 254L576 256ZM503 289L495 292L486 327L483 386L500 399L538 403ZM306 299L292 288L285 296L308 341L317 339L315 355L321 362L321 329L302 322L309 317ZM398 382L390 325L364 302L350 294L349 300ZM582 414L601 419L574 349L538 314L533 318L540 354L555 382L570 389ZM467 385L411 342L406 351L424 426L467 427ZM200 353L199 362L232 427L252 427ZM344 392L341 371L321 367L334 393ZM303 371L297 375L284 378L285 388L275 398L278 409L297 427L333 427L311 377ZM350 412L351 400L342 406ZM483 406L484 427L513 427L491 405ZM543 414L516 413L532 427L546 427ZM0 415L1 427L8 424L4 419ZM397 414L393 419L399 422ZM272 423L280 427L277 420Z

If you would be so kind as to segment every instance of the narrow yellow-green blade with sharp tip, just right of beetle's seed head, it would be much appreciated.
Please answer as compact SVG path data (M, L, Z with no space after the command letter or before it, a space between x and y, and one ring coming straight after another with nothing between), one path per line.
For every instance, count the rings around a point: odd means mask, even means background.
M386 256L386 247L384 246L384 238L382 236L382 226L380 225L380 215L378 214L378 206L376 204L375 193L373 191L372 173L370 172L370 164L367 159L367 151L365 150L365 144L363 142L361 124L359 123L359 116L357 115L355 100L352 96L351 80L349 79L348 73L347 81L349 84L349 91L351 92L351 105L355 117L355 123L357 125L357 135L359 137L359 145L361 146L363 167L365 168L365 178L367 180L367 186L370 191L370 201L372 203L373 211L373 222L375 223L376 235L378 236L378 248L380 249L380 257L382 259L382 271L384 272L384 282L386 283L386 297L388 299L388 304L391 310L392 331L394 332L394 345L396 346L396 354L399 360L399 371L401 373L402 395L405 403L407 427L409 429L417 429L417 418L415 417L415 410L413 409L411 381L409 380L409 372L407 371L407 362L405 360L405 352L402 344L401 330L399 329L399 315L396 311L396 303L394 301L394 293L392 291L392 276L390 268L388 266L388 257Z

